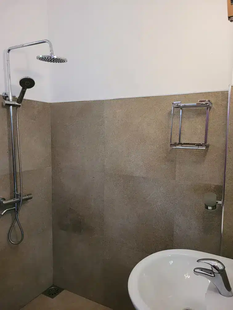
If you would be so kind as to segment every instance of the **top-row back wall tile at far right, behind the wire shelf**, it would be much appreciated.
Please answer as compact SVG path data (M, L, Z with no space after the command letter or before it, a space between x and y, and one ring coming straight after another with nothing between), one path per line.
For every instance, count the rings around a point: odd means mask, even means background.
M226 141L226 117L228 95L226 91L179 95L182 103L198 102L201 99L209 99L213 106L209 114L208 150L174 150L176 156L176 180L196 183L208 183L222 185L225 141ZM203 123L205 124L205 110L195 112L191 117L187 111L182 119L182 142L198 142L203 137ZM193 114L193 113L192 113ZM194 124L196 122L196 124ZM196 126L196 130L195 130ZM202 131L202 132L200 132ZM193 139L188 141L187 139ZM200 142L203 142L200 141Z

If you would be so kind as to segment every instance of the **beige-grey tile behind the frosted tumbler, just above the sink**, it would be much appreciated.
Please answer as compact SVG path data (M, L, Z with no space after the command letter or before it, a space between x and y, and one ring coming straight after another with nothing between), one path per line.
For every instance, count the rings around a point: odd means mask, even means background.
M204 208L204 194L215 192L222 199L222 187L211 184L176 182L174 248L220 254L221 207Z

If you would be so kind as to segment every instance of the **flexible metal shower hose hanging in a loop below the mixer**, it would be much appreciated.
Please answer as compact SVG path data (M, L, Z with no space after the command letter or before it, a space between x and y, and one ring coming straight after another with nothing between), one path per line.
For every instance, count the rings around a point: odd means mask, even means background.
M12 243L12 244L20 244L23 239L24 239L24 232L23 232L23 228L20 224L20 221L19 221L19 213L20 213L20 209L21 209L21 206L22 206L22 201L23 201L23 183L22 183L22 167L21 167L21 154L20 154L20 138L19 138L19 119L18 119L18 108L16 107L16 134L17 134L17 146L18 146L18 158L19 158L19 172L20 172L20 202L18 204L16 204L16 208L15 208L15 219L14 219L14 222L13 224L11 225L11 228L10 228L10 231L9 231L9 241ZM16 188L15 188L16 190ZM15 226L15 224L18 224L19 228L20 228L20 232L21 232L21 239L20 241L13 241L11 239L11 233L12 233L12 230Z

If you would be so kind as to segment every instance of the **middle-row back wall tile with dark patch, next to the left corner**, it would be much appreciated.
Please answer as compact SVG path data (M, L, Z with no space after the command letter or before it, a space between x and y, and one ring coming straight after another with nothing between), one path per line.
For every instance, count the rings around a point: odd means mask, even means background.
M103 173L53 171L53 227L84 236L103 235Z

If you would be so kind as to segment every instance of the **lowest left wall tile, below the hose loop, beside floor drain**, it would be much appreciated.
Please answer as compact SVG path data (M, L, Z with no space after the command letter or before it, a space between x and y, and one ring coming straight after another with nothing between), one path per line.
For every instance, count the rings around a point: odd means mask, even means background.
M5 243L0 263L0 308L18 310L52 285L52 231L32 233L20 246Z

